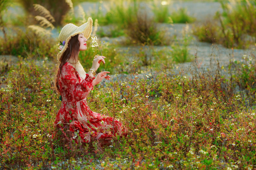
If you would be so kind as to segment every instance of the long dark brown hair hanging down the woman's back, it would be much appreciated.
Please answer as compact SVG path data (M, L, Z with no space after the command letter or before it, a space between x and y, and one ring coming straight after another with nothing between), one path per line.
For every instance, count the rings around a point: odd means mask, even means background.
M56 79L55 79L55 85L56 85L56 89L57 89L58 93L60 93L58 79L61 74L63 65L70 59L72 54L73 54L73 56L76 57L75 60L76 61L78 60L78 53L79 53L79 47L80 47L80 42L78 41L78 36L79 36L79 34L70 38L69 42L67 42L68 47L67 47L66 51L64 51L64 53L60 57L60 65L59 65L59 69L58 69Z

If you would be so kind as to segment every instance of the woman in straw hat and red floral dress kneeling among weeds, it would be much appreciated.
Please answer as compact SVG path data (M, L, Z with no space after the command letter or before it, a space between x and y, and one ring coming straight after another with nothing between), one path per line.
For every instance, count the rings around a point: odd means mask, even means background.
M78 60L79 51L87 49L86 41L92 32L92 18L82 26L67 24L59 35L60 52L57 55L60 66L56 76L56 87L62 96L62 105L56 116L54 126L67 128L79 134L82 142L91 140L111 139L117 134L126 135L127 129L112 117L93 112L88 107L86 97L93 86L102 79L110 80L108 71L98 73L95 71L100 63L105 63L104 56L95 56L88 74ZM74 135L73 138L77 138Z

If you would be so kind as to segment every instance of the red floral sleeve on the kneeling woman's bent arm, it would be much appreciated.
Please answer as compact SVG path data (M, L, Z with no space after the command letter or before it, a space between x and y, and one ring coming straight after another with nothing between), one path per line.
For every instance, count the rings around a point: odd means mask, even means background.
M83 100L87 97L89 92L93 90L92 81L95 77L90 77L86 74L85 79L80 83L76 70L72 65L65 64L62 67L63 84L70 89L70 94L76 101Z

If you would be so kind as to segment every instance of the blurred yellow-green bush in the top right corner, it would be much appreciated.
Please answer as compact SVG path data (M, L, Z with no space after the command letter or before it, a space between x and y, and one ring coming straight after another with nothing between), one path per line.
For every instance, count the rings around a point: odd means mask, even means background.
M256 2L248 0L221 2L222 14L216 13L216 20L208 22L194 33L199 40L216 42L231 48L247 48L256 41ZM207 31L206 31L207 30Z

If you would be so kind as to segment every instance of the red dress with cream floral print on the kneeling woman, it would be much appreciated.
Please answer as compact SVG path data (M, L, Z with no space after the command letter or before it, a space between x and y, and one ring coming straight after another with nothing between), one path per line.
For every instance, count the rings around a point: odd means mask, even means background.
M58 70L60 71L60 69ZM62 105L56 116L54 126L69 127L69 130L80 135L82 142L111 139L118 134L126 136L127 129L112 117L91 111L86 97L93 90L95 77L86 74L82 79L76 69L68 62L62 67L58 79Z

